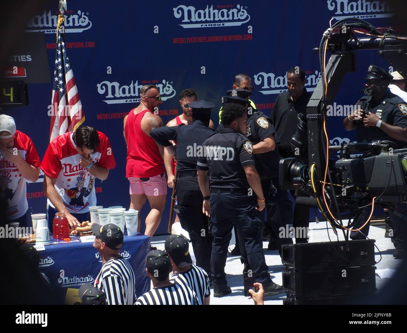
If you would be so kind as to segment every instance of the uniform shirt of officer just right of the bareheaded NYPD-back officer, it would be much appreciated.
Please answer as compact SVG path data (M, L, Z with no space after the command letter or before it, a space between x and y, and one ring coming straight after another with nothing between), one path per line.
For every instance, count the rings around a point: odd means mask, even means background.
M246 136L253 144L258 144L270 135L274 135L276 144L280 142L276 129L271 124L269 118L260 112L256 111L247 119ZM256 170L259 176L269 176L271 178L278 177L278 163L280 162L280 154L278 149L271 150L262 154L254 154L256 161Z

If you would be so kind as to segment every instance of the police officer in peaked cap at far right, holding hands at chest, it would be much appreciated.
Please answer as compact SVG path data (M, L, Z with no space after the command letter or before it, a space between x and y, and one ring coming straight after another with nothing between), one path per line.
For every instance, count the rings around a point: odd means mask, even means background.
M346 131L356 128L357 142L388 140L394 142L394 148L404 148L407 145L407 105L388 88L392 79L382 67L369 66L365 77L367 96L363 96L357 102L357 110L344 119ZM405 211L405 205L398 205L395 210ZM359 229L365 223L369 213L369 209L363 210L354 229ZM394 212L390 212L390 218L394 227L392 242L396 247L393 256L404 257L407 221ZM350 238L364 239L368 232L369 224L361 232L352 232Z

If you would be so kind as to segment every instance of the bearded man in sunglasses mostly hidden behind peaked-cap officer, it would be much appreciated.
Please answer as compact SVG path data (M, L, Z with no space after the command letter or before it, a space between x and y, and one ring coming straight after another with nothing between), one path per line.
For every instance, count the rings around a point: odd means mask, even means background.
M189 107L189 104L192 102L195 102L198 100L197 93L195 92L195 89L192 88L187 88L181 91L181 94L179 94L179 104L181 105L182 108L182 114L177 115L174 119L170 120L166 126L172 127L172 126L178 126L180 124L192 124L192 108ZM209 127L214 129L215 126L210 120ZM176 142L173 142L173 144L177 144ZM164 150L164 164L165 164L165 170L167 172L167 178L168 178L168 187L173 188L174 186L174 174L175 174L175 165L177 165L177 162L174 161L174 159L168 154L166 150ZM176 224L179 222L178 215L175 215L175 220L173 223L173 230L177 230L180 228L180 224ZM173 234L179 235L178 232L174 232Z

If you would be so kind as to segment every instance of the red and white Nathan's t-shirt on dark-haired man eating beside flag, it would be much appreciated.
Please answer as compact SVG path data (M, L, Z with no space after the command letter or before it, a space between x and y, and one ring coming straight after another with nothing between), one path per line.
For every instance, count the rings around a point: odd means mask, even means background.
M57 178L55 190L70 213L88 213L90 206L96 206L95 176L79 164L73 132L59 135L48 145L41 170L46 176ZM98 132L100 145L92 157L94 164L107 169L116 167L109 139ZM48 205L55 208L48 199Z

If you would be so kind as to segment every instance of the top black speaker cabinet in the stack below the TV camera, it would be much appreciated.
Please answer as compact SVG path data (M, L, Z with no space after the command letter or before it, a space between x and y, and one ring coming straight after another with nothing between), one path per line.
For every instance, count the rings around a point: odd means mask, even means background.
M287 244L282 246L282 260L288 270L315 270L335 267L373 266L373 240Z

